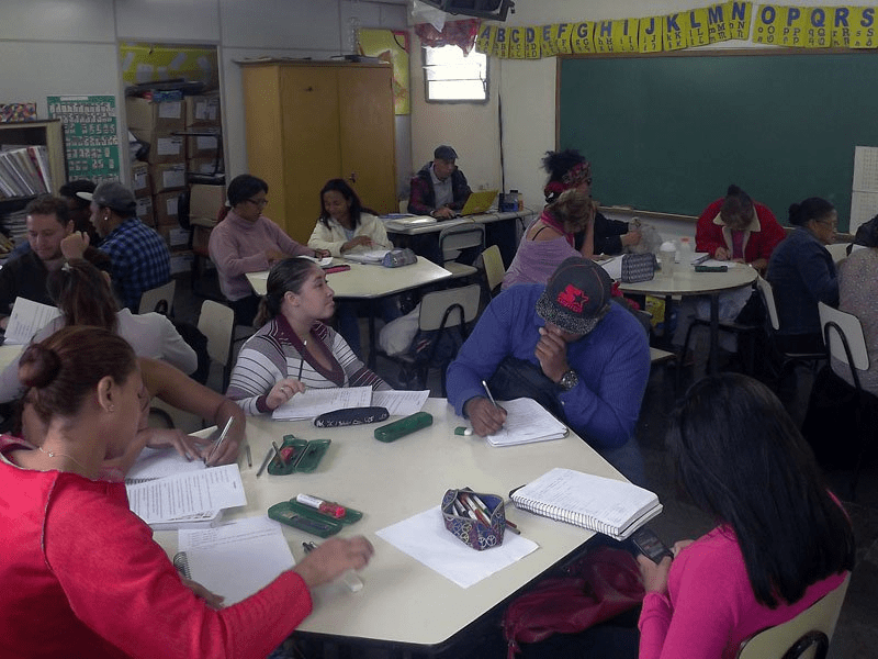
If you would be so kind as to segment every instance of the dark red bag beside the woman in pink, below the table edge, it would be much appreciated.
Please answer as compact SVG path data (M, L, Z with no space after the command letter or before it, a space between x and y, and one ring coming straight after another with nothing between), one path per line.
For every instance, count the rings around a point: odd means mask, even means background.
M643 581L628 551L597 547L518 596L503 615L508 658L518 643L537 643L552 634L575 634L608 621L643 601Z

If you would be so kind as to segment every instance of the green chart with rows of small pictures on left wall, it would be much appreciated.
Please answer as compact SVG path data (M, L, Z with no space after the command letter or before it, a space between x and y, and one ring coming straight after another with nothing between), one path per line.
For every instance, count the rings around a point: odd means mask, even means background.
M67 178L94 182L119 180L120 150L116 98L56 96L46 98L48 115L64 125Z

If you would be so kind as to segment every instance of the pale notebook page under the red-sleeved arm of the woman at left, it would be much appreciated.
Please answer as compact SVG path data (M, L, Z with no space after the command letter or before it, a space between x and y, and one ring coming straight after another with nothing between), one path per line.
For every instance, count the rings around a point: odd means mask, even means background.
M281 525L268 517L236 520L204 529L180 529L190 578L223 595L228 606L245 600L295 566Z

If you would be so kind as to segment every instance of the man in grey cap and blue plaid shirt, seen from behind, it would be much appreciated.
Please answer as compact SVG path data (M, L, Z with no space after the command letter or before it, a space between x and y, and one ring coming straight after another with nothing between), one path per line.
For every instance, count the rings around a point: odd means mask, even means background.
M77 196L91 202L91 223L103 238L101 252L112 261L113 286L123 306L137 313L143 292L167 283L171 277L165 238L140 222L134 193L117 181L101 183L94 192ZM74 234L65 239L65 254L68 258L81 258L88 244L88 234Z

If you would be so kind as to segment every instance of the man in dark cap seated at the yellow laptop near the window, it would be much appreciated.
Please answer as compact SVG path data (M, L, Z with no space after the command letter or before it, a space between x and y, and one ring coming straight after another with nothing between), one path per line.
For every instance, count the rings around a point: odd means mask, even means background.
M448 220L459 213L470 197L466 177L458 169L457 152L450 146L437 146L432 163L427 163L412 177L408 212Z

